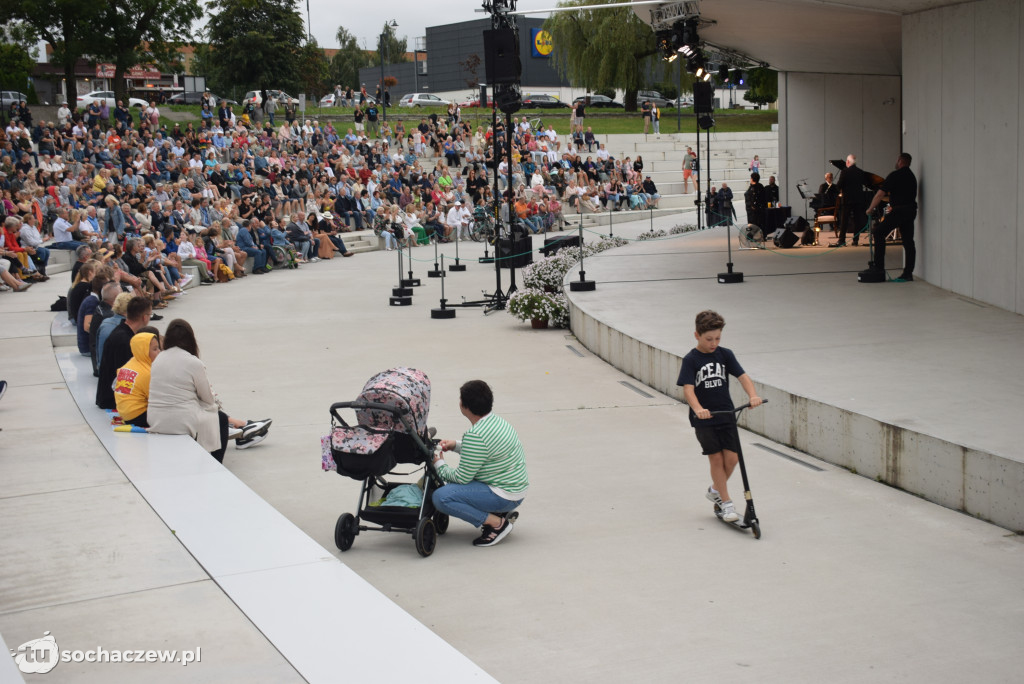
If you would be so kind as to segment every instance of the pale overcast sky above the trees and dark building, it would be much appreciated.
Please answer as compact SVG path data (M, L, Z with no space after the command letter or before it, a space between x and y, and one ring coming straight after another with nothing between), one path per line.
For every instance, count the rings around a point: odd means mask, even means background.
M299 0L299 11L306 17L306 1ZM389 0L388 2L367 2L366 0L308 0L309 20L312 34L322 47L338 47L335 34L343 26L355 36L359 45L368 49L377 47L377 36L385 22L398 23L395 33L398 38L409 39L409 49L414 47L417 37L426 36L428 26L459 24L485 18L487 15L475 10L482 8L481 0ZM545 9L554 7L557 0L520 0L517 9ZM352 11L352 8L358 10ZM366 11L364 11L366 9ZM543 16L543 15L539 15Z

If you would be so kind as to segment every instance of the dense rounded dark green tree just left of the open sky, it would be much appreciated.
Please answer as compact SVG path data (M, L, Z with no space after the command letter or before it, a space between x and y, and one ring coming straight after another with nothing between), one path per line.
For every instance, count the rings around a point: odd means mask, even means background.
M207 24L218 84L294 90L306 38L295 0L212 0Z

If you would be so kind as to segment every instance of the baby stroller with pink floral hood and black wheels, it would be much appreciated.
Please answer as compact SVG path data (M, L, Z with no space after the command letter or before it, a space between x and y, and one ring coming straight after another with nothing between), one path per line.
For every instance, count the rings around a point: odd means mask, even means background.
M355 411L355 425L339 415ZM356 513L342 513L334 527L334 542L348 551L361 531L401 531L413 536L423 557L434 551L437 536L447 531L449 516L431 501L443 482L432 463L433 429L427 428L430 380L422 371L394 368L372 377L355 401L331 405L331 434L324 437L324 470L361 480ZM419 486L389 481L397 464L420 466ZM419 468L413 469L417 472ZM366 523L373 523L366 524Z

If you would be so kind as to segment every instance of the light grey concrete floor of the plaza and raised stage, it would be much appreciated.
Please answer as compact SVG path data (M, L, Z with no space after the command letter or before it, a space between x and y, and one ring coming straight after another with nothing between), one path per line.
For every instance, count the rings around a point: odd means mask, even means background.
M689 221L655 219L659 227L679 222ZM615 233L635 237L647 227L616 225ZM810 251L736 254L749 282L718 285L708 279L724 270L723 247L714 232L697 233L595 258L587 270L598 290L578 301L679 353L690 345L693 314L717 308L728 320L725 344L760 383L792 383L821 401L947 430L978 448L1014 451L1021 426L1012 404L1022 374L1010 352L1021 349L1019 317L924 283L858 285L864 249L810 259L797 258ZM464 256L482 251L462 248ZM755 541L728 528L703 499L707 460L684 405L615 370L568 331L531 331L506 313L477 309L430 319L440 296L438 283L426 279L432 250L414 254L424 260L415 266L424 285L411 307L387 305L394 255L375 252L194 290L164 311L162 328L173 317L191 323L231 415L274 419L258 447L228 452L228 469L499 681L1019 679L1020 536L815 458L828 454L809 456L745 431L764 536ZM0 553L18 559L0 569L4 641L15 647L43 630L93 641L127 632L156 648L207 635L200 644L206 660L207 643L237 639L222 648L216 670L212 662L173 673L58 667L46 676L54 682L301 681L203 582L202 568L181 576L161 574L153 563L121 568L124 559L104 554L102 544L82 547L74 537L79 526L40 506L46 497L84 500L87 489L121 479L114 467L75 477L46 467L101 448L46 346L48 306L67 286L56 281L0 296L0 347L11 382L0 402ZM476 299L494 281L489 266L470 263L446 279L447 298ZM532 485L520 522L501 545L475 549L476 531L453 521L427 559L398 533L362 533L344 554L335 548L335 520L353 511L358 485L319 470L328 408L355 398L371 375L398 365L430 376L430 422L439 436L468 427L458 387L477 377L492 384L496 411L518 430ZM770 408L762 415L771 417ZM981 424L956 419L969 409ZM841 440L837 434L837 448ZM31 460L39 466L28 467ZM738 491L738 475L732 484ZM120 499L88 501L96 524L134 508ZM184 553L171 548L170 530L142 522L124 531L133 554ZM40 540L65 546L76 562L45 565L50 553L31 551ZM90 590L90 582L122 569L145 580L131 591ZM68 589L57 596L32 594L40 583L61 581ZM339 644L336 681L350 681L345 660L357 650ZM402 644L394 652L401 657ZM389 681L386 662L378 681Z

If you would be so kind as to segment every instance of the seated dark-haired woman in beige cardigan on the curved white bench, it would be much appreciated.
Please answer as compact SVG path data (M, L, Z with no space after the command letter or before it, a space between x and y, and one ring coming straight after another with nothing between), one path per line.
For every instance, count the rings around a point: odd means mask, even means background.
M147 408L150 432L186 434L223 463L228 438L238 448L263 441L270 420L243 421L220 410L191 326L175 318L167 326L164 351L153 361Z

